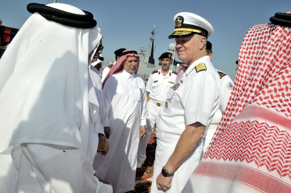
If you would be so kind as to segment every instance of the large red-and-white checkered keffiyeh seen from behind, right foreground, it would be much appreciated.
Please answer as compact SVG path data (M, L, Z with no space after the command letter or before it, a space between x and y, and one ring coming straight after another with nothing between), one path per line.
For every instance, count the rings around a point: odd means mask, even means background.
M291 11L288 12L291 14ZM291 192L291 27L255 25L194 192Z

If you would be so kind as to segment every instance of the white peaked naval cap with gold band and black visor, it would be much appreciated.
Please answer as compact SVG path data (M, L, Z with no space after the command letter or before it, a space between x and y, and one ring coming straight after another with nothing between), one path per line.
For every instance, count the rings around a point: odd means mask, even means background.
M213 34L212 25L205 19L189 12L181 12L174 17L175 29L174 32L168 36L173 39L176 36L190 36L194 33L210 37Z

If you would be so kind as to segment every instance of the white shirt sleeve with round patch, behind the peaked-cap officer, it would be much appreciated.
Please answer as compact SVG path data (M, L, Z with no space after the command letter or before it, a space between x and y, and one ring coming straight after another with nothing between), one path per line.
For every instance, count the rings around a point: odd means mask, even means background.
M218 70L221 72L220 70ZM221 118L222 118L222 112L225 111L225 108L227 106L227 103L229 101L229 97L231 94L231 91L233 90L233 81L231 78L225 74L224 72L221 72L221 99L219 103L219 108L216 110L214 117L211 121L211 124L219 124Z

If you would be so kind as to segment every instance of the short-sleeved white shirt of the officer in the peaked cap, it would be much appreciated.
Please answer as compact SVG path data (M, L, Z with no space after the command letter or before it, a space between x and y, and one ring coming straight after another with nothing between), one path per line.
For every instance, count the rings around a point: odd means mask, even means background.
M207 70L196 72L195 66L201 62ZM187 125L198 121L206 126L206 134L220 102L221 90L220 78L210 57L196 60L174 86L178 88L167 92L168 107L165 104L162 107L157 130L181 135Z

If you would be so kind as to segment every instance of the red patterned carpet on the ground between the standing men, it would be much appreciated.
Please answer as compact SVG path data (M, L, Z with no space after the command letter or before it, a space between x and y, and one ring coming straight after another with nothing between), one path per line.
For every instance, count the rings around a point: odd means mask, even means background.
M155 151L156 151L155 130L150 137L146 148L146 160L140 169L136 169L134 190L128 193L145 193L150 192L152 185L152 174L154 170Z

